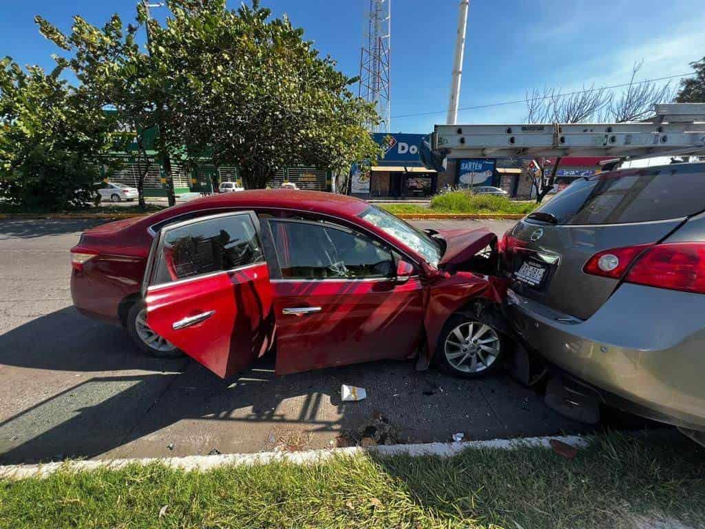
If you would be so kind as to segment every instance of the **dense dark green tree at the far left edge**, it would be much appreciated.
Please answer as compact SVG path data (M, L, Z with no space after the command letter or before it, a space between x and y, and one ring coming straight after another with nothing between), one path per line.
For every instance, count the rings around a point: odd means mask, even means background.
M95 202L102 157L121 146L114 118L59 78L57 60L49 75L0 61L0 195L32 209Z

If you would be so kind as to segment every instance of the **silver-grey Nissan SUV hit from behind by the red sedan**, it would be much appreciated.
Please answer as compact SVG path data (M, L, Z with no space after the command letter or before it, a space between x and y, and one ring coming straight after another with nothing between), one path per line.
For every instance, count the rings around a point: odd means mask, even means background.
M505 233L508 316L551 367L549 405L705 438L704 212L705 164L671 164L581 178Z

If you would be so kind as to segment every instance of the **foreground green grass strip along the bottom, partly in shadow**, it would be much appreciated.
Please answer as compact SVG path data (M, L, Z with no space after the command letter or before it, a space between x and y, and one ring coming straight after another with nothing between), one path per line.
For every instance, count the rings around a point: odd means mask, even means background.
M705 523L705 449L681 436L613 434L573 460L472 449L449 459L357 456L207 473L131 466L0 482L0 527L13 529L627 528L635 516Z

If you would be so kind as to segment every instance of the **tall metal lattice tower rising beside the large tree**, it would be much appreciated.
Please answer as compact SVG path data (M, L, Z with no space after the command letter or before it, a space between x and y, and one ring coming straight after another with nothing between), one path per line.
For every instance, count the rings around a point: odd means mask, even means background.
M364 0L367 2L367 0ZM370 132L391 130L391 0L369 0L365 6L360 51L360 97L373 103L381 119L379 126L367 123Z

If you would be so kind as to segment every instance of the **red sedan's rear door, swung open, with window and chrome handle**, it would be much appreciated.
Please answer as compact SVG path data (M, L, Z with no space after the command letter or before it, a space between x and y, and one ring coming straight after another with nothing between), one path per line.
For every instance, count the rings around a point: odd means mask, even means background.
M222 378L250 365L274 334L259 221L231 212L164 226L142 287L147 324Z

